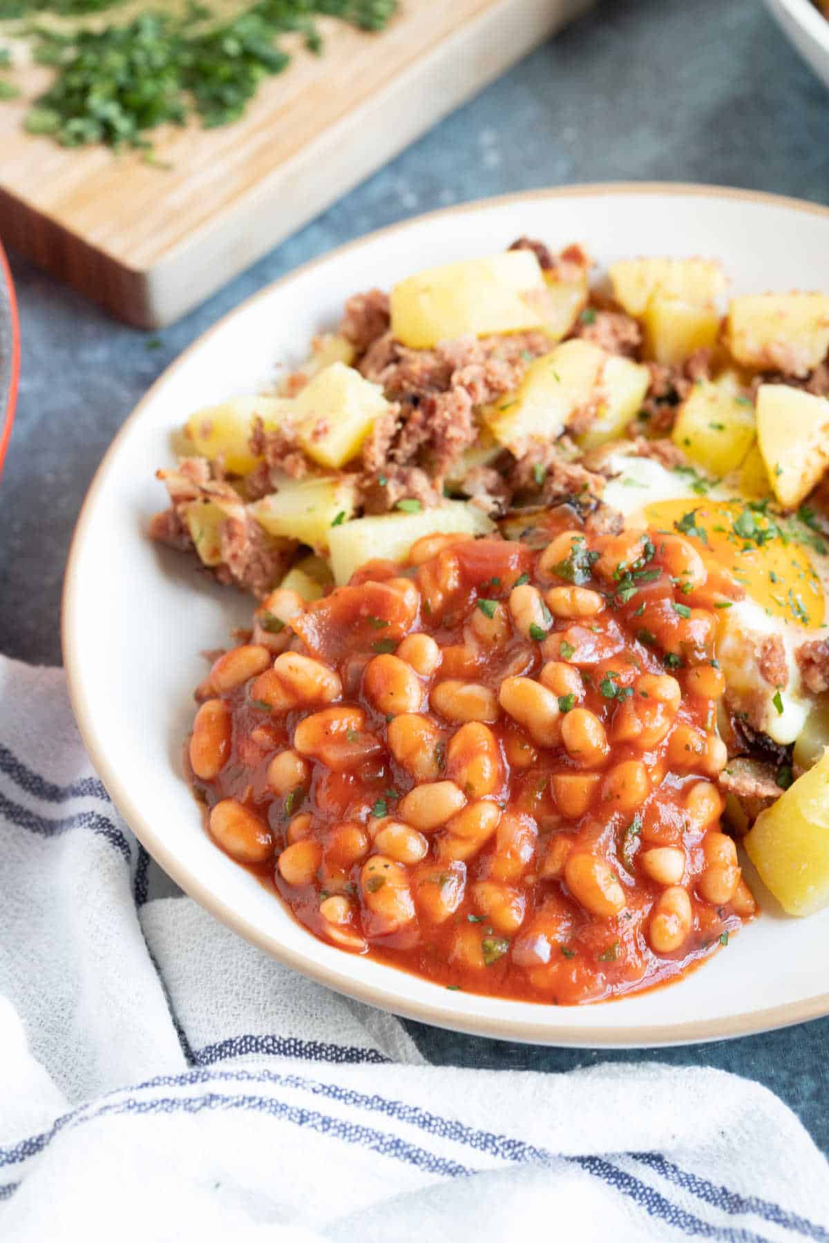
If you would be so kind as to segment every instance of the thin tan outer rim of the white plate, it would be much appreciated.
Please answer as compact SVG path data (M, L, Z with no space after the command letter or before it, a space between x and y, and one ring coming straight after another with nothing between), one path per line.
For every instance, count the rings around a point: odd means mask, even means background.
M570 1024L544 1030L541 1024L529 1024L528 1018L498 1018L495 1016L465 1016L459 1012L446 1012L445 1006L421 1002L406 998L394 992L393 986L388 988L374 986L368 982L353 979L346 970L328 967L312 956L316 938L308 937L309 952L300 952L287 948L278 938L263 932L251 924L244 914L229 906L221 897L214 895L201 883L193 878L186 866L179 866L172 853L165 848L164 839L155 833L150 822L144 817L140 808L124 788L119 774L108 762L106 748L98 740L92 713L85 699L82 687L82 675L80 661L76 660L75 622L77 615L76 594L77 574L81 559L81 549L85 534L89 526L97 493L108 474L109 462L114 457L122 439L132 430L142 418L144 409L152 403L157 392L162 389L172 375L184 365L190 354L218 333L231 317L242 311L247 311L257 301L270 297L283 285L314 271L318 267L339 259L344 254L388 239L395 232L404 231L413 224L423 221L437 221L449 216L464 215L470 211L486 210L490 208L506 206L507 204L522 204L544 199L585 198L602 195L677 195L698 196L708 199L726 199L731 201L759 203L767 206L784 208L788 210L805 211L820 216L829 221L829 208L803 199L787 195L771 194L762 190L747 190L736 186L705 185L684 181L593 181L584 184L572 184L563 186L542 186L532 190L507 193L491 198L471 199L454 204L449 208L439 208L398 220L383 229L373 230L354 237L333 250L327 250L305 264L282 273L276 281L270 282L261 290L242 300L232 307L191 342L154 380L142 399L127 416L116 433L112 443L98 464L92 481L87 488L83 503L72 532L70 553L63 577L61 597L61 648L63 666L66 670L67 689L72 711L78 725L81 738L89 756L89 761L101 777L117 812L123 817L138 842L149 851L159 866L203 906L214 919L229 927L232 932L244 937L259 950L265 951L285 966L298 971L301 975L344 993L355 1001L374 1006L404 1018L414 1019L431 1027L441 1027L449 1030L461 1032L470 1035L486 1037L501 1040L516 1040L520 1043L558 1047L558 1048L655 1048L657 1045L695 1044L717 1039L731 1039L741 1035L752 1035L758 1032L773 1030L781 1027L790 1027L809 1019L822 1018L829 1014L829 992L815 993L800 1001L787 1002L762 1011L751 1011L741 1014L727 1016L726 1018L701 1018L680 1024L659 1024L643 1032L641 1027L616 1025L613 1028L595 1028L588 1024ZM347 958L347 961L349 961ZM385 963L383 966L387 966ZM389 972L399 972L398 968L388 966ZM472 994L470 994L472 996ZM524 1003L532 1007L531 1013L541 1013L543 1007L538 1003ZM615 1004L608 1002L604 1004ZM584 1013L585 1007L573 1007L574 1013ZM562 1011L557 1013L561 1016Z

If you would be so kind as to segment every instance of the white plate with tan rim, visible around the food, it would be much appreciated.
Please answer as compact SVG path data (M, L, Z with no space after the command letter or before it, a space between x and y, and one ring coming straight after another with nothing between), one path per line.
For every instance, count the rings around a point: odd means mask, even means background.
M562 1007L447 991L323 945L204 833L181 769L199 653L226 645L245 599L145 536L163 503L153 474L196 406L255 389L358 290L496 251L520 234L583 241L602 265L631 255L720 256L741 292L829 292L829 210L694 186L542 190L421 216L353 242L259 293L170 367L124 424L89 488L63 597L75 711L116 805L183 889L241 936L339 992L481 1035L542 1044L653 1045L740 1035L829 1012L829 911L764 914L687 978L640 997Z

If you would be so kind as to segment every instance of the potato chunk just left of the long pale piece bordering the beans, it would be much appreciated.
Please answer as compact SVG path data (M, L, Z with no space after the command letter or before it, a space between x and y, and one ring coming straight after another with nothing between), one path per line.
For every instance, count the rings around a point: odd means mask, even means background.
M331 536L350 518L354 508L354 482L350 479L286 477L277 492L257 501L252 512L272 536L288 536L324 552Z

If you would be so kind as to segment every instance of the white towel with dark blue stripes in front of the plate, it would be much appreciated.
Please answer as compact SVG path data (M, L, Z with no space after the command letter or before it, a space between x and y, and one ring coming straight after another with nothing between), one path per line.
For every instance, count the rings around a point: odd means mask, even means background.
M0 851L4 1243L829 1243L829 1167L764 1088L429 1066L148 899L62 672L4 659Z

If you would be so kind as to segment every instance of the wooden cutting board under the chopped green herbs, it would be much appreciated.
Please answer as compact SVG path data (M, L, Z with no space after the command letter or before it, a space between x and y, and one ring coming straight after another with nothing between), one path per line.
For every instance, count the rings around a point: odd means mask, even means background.
M0 235L142 328L176 319L593 0L401 0L369 35L321 19L245 117L158 131L155 153L67 150L21 128L48 71L0 107ZM292 50L290 41L286 47Z

